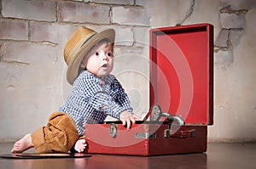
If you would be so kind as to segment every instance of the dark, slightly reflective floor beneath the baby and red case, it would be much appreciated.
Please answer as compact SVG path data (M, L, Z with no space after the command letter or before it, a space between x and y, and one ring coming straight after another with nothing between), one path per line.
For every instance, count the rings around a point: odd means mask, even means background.
M0 144L0 154L10 152L13 144ZM32 152L33 150L29 150ZM207 153L189 155L125 156L91 155L76 159L5 159L0 168L8 169L79 169L79 168L256 168L255 144L208 144Z

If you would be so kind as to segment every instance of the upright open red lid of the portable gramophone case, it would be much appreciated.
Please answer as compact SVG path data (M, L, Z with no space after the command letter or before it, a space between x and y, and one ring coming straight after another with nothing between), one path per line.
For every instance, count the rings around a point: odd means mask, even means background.
M150 106L185 123L213 124L213 26L150 30Z

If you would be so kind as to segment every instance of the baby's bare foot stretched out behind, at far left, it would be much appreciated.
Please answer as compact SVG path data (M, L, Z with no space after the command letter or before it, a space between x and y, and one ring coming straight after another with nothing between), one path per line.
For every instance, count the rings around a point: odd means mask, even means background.
M11 152L22 153L23 151L26 151L26 149L30 149L32 147L34 147L34 145L32 144L31 134L26 134L26 136L20 138L20 140L14 144L14 148Z

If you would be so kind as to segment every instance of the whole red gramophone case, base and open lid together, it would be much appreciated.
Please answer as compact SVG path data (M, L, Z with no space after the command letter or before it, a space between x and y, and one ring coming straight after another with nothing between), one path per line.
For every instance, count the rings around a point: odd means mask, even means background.
M171 155L207 151L213 124L213 26L177 25L150 30L150 106L182 116L185 124L119 121L86 124L87 153Z

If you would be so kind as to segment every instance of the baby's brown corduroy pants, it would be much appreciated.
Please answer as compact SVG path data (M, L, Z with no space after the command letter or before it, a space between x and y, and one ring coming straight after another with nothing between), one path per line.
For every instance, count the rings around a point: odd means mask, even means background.
M67 153L78 139L73 119L61 112L51 114L47 126L32 133L32 144L37 153Z

